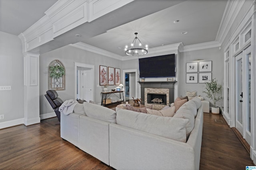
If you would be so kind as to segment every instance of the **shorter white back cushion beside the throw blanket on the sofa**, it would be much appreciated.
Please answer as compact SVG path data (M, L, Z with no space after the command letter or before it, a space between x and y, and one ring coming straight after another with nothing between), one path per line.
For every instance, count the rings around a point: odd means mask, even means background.
M84 112L88 117L110 123L116 123L116 111L90 102L84 102L83 105Z

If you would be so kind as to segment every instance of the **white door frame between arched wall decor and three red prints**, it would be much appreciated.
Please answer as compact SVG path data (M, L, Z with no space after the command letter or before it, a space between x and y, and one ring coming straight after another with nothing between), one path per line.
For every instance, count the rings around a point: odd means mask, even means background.
M77 91L77 81L76 81L76 72L77 72L77 67L83 67L83 68L90 68L92 69L92 94L94 94L94 65L91 65L91 64L84 64L84 63L77 63L77 62L74 62L75 64L75 99L76 99L76 91ZM94 101L94 95L92 95L92 101Z

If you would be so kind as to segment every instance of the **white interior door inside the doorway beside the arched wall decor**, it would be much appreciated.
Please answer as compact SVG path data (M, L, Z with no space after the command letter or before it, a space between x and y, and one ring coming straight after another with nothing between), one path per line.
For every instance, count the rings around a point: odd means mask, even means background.
M82 71L82 98L83 100L93 100L93 84L92 84L92 69Z

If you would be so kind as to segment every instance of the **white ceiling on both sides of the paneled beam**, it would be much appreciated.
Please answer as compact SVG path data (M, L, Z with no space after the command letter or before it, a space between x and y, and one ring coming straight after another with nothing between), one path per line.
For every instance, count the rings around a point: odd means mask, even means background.
M0 0L0 31L18 35L57 0ZM40 53L76 42L124 56L135 32L150 48L182 42L215 41L228 0L135 0L90 23L84 23L34 51ZM178 23L174 23L179 20ZM182 34L188 31L187 34ZM76 37L76 34L82 37ZM118 48L121 47L121 48ZM33 52L33 50L31 51Z

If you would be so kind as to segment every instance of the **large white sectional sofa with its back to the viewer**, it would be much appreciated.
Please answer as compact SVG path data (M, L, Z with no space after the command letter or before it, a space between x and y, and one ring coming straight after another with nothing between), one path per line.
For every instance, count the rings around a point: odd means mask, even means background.
M62 139L117 170L198 170L202 125L202 104L196 98L174 117L116 112L84 102L74 113L61 113L60 131Z

